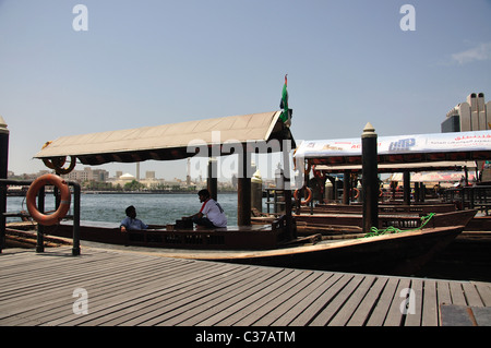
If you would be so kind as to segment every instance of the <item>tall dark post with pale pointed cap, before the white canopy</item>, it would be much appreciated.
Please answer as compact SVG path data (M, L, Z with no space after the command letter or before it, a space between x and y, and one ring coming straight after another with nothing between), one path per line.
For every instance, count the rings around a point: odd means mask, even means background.
M363 232L372 227L379 228L379 164L376 133L370 123L361 134L362 190L363 190Z

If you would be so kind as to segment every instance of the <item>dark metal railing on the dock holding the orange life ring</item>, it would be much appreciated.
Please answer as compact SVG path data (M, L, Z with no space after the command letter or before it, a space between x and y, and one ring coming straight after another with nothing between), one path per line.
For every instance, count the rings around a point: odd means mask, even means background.
M4 202L4 211L0 212L0 253L5 247L5 231L7 231L7 217L8 216L25 216L25 214L10 214L5 213L7 211L7 187L8 185L31 185L33 181L23 181L23 180L9 180L9 179L0 179L0 200ZM72 255L80 255L80 195L81 189L80 184L74 181L67 181L67 183L73 187L73 241L72 241ZM44 212L45 209L45 190L41 188L37 195L38 203L37 208L39 212ZM37 242L36 242L36 252L44 252L44 226L38 224L37 226Z

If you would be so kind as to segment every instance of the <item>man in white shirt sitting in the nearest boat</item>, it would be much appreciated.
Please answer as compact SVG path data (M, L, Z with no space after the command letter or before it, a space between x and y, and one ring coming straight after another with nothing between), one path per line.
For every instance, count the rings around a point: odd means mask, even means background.
M192 219L197 226L207 228L227 227L227 216L221 206L211 197L208 190L197 192L200 202L203 203L200 212L194 215L183 217L183 219ZM206 217L205 217L206 216Z

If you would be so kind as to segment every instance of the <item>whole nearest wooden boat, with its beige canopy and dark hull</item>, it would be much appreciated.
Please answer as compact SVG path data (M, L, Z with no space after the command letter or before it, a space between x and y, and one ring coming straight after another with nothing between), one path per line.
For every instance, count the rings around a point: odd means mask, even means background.
M285 217L268 221L266 225L252 225L248 171L250 153L258 149L267 153L280 151L284 153L284 165L289 168L288 152L295 147L295 141L288 124L280 119L282 113L274 111L128 131L63 136L46 143L35 155L61 175L72 170L77 160L84 165L101 165L110 161L170 160L195 155L209 157L239 153L239 163L242 164L239 171L241 178L238 182L239 226L208 230L153 226L153 229L148 230L121 233L119 224L80 221L80 214L76 214L80 201L75 199L73 223L61 221L46 226L45 232L52 236L71 236L72 231L77 231L82 241L99 241L106 245L110 243L146 247L147 251L193 260L325 269L337 269L339 266L345 271L355 271L352 267L360 267L361 271L371 264L409 272L407 265L411 265L411 268L417 267L444 248L465 227L463 221L454 226L337 242L322 241L320 235L296 238L295 220L291 209L288 208L288 202L291 200L288 199ZM219 140L214 132L220 132ZM201 140L199 144L194 142L196 139ZM235 141L230 142L230 139ZM68 157L71 158L71 165L63 168ZM216 178L209 178L211 182L214 180ZM287 195L291 194L288 190L285 192ZM67 200L62 199L61 203L67 204Z

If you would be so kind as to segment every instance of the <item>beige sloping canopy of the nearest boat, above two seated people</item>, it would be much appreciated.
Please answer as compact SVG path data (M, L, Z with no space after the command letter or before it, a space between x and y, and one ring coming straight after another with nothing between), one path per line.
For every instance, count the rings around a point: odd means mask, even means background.
M291 141L289 146L295 148L290 129L279 119L280 113L282 111L271 111L62 136L46 143L34 157L55 159L72 156L84 165L93 166L111 161L135 163L147 159L182 159L195 155L230 155L235 152L233 144L262 142L267 145L271 141L277 142L270 144L271 146L256 145L255 152L260 152L258 148L282 151L283 141Z

